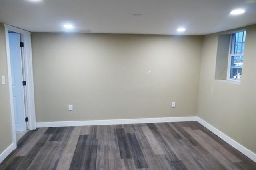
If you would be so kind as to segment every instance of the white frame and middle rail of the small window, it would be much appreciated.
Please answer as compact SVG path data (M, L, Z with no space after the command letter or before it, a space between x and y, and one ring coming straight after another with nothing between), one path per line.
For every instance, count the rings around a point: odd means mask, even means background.
M244 56L244 54L233 54L232 51L234 51L234 44L235 44L235 36L234 34L239 33L239 32L243 32L246 30L240 30L240 31L236 31L232 34L230 34L230 45L229 45L229 51L228 51L228 73L227 73L227 80L229 81L234 81L234 82L241 82L242 78L240 80L235 79L235 78L230 78L230 71L231 71L231 61L232 61L232 56ZM245 39L246 41L246 39ZM242 68L243 70L243 68Z

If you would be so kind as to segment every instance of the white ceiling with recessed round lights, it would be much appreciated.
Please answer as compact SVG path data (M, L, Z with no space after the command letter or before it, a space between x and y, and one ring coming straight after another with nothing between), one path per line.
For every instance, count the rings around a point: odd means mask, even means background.
M251 1L251 3L248 3ZM31 32L202 35L256 23L256 0L0 0L0 22ZM231 16L234 8L246 13ZM143 14L134 16L133 14Z

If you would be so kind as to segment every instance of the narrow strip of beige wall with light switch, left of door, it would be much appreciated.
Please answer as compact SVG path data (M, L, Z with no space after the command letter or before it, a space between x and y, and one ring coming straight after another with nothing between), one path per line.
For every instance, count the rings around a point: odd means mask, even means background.
M4 25L0 23L0 76L2 75L5 76L6 84L0 83L0 154L12 143L5 31Z

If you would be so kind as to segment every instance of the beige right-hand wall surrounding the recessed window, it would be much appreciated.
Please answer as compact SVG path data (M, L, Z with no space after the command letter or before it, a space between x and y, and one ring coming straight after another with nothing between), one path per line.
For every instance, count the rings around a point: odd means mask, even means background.
M214 80L218 34L204 36L198 116L256 152L256 25L246 31L240 84Z

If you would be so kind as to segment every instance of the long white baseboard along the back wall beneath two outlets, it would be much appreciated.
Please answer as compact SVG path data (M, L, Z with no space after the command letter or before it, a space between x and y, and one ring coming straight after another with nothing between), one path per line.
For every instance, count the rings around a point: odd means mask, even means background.
M142 119L113 119L113 120L89 120L89 121L54 121L54 122L37 122L36 127L120 125L120 124L137 124L137 123L196 121L196 119L197 119L196 116L191 116L191 117L158 117L158 118L142 118Z

